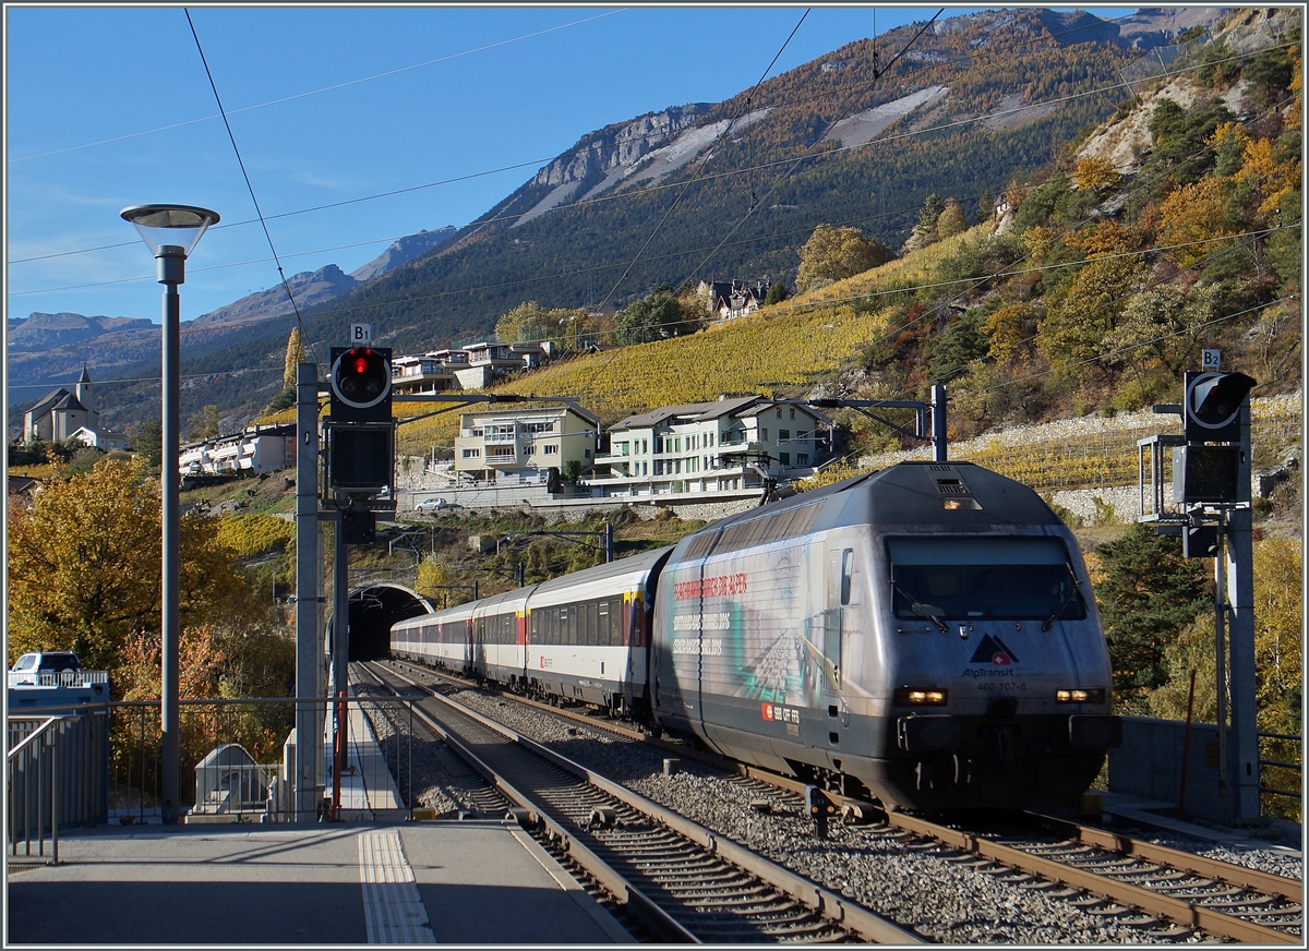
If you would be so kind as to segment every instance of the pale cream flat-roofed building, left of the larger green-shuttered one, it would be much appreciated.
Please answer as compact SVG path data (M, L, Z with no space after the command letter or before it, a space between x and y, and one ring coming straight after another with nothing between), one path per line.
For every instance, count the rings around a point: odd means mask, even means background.
M571 462L583 471L594 464L598 432L600 419L575 403L459 413L454 471L482 483L548 485Z

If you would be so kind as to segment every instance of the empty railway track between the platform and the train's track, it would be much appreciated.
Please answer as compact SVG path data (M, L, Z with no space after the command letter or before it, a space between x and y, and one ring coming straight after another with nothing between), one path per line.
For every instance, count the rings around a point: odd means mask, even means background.
M380 683L419 685L391 670ZM920 943L910 930L431 692L415 716L662 941Z

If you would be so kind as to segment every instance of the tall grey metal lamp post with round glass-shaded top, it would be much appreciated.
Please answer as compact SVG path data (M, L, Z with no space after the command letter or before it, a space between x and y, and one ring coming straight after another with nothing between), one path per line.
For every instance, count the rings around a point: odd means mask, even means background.
M195 249L204 230L219 221L216 212L191 205L132 205L122 212L123 220L136 226L145 246L158 262L158 283L164 285L164 406L162 406L162 462L160 488L164 523L164 583L162 583L162 676L160 701L161 726L161 789L165 823L178 818L181 756L178 723L178 644L181 624L179 600L179 544L178 544L178 440L181 373L178 351L182 319L177 285L186 280L186 259Z

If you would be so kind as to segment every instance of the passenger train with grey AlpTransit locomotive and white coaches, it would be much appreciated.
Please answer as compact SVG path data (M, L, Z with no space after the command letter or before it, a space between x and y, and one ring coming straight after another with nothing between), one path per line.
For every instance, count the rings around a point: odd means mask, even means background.
M1122 742L1072 532L966 462L901 463L402 621L391 654L889 808L1075 803Z

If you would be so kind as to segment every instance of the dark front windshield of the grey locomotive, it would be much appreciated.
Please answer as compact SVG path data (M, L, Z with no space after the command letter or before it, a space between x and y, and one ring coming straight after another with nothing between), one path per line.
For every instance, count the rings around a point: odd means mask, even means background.
M897 617L1052 623L1086 616L1059 539L893 538L886 545Z

